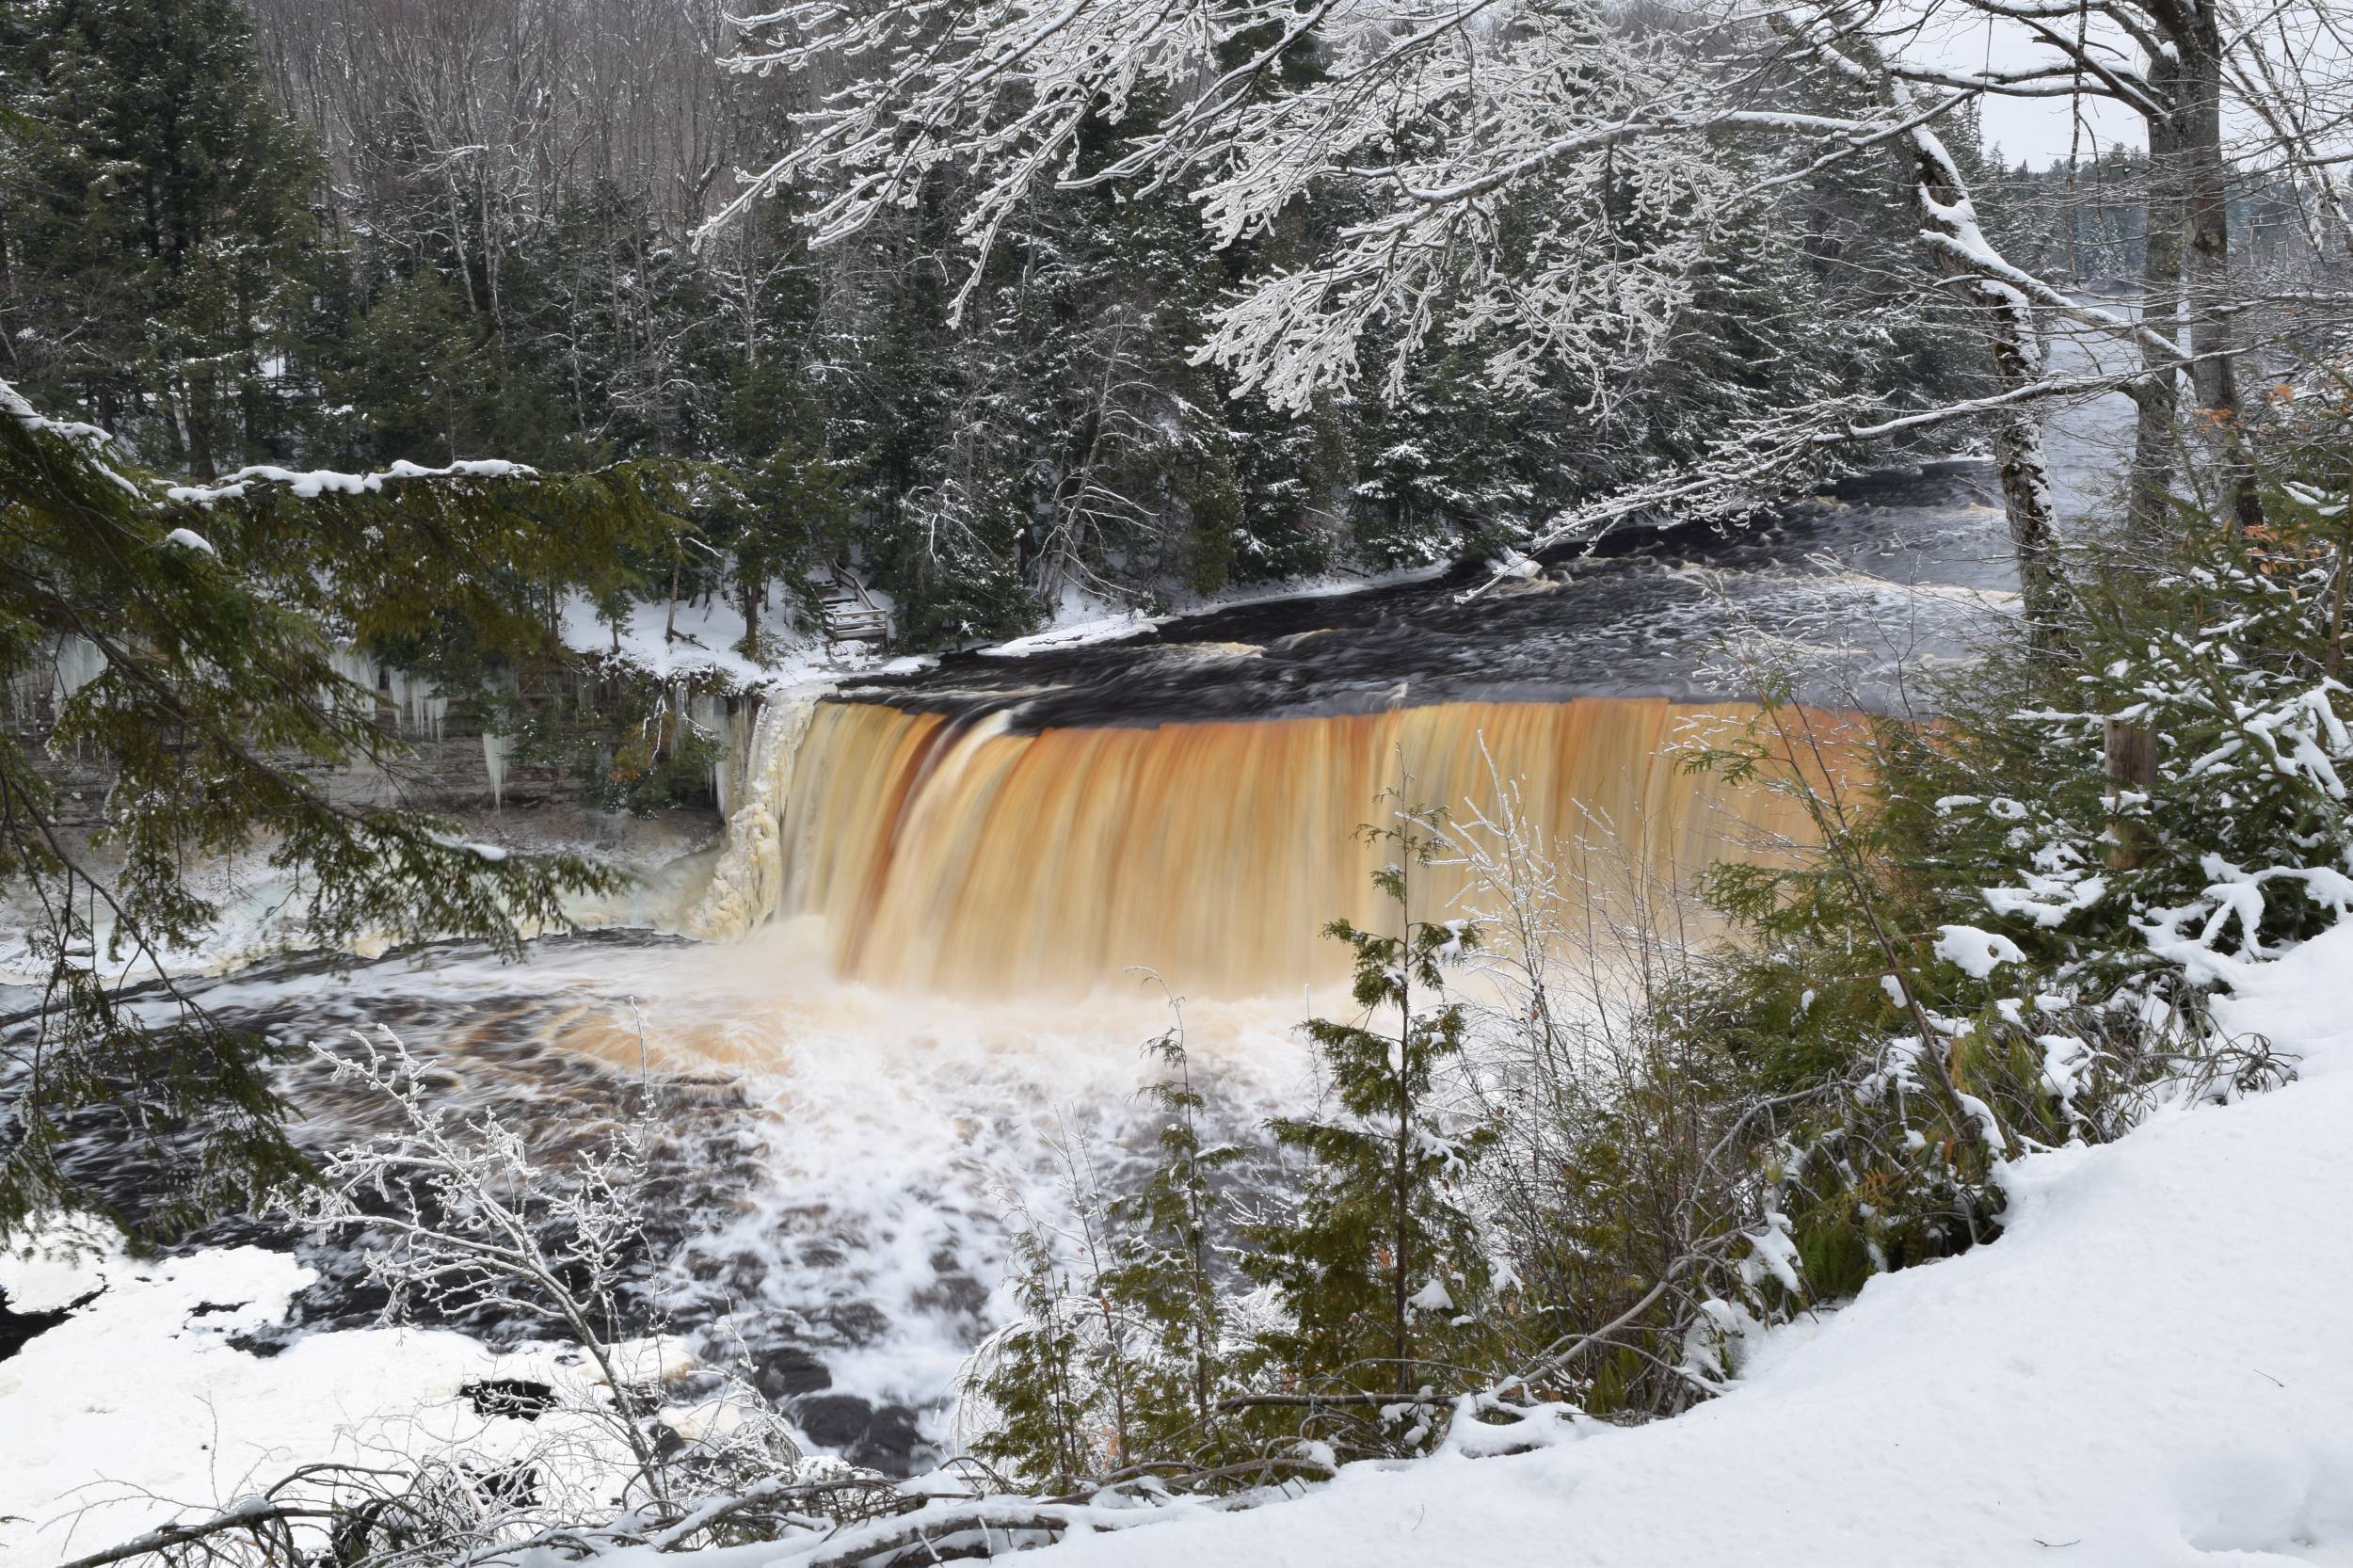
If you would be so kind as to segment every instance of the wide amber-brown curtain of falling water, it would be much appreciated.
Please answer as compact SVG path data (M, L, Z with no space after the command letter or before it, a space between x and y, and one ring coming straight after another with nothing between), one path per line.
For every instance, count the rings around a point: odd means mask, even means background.
M1054 994L1160 970L1247 996L1337 977L1318 937L1379 921L1393 855L1355 829L1386 789L1457 819L1497 779L1595 881L1680 881L1800 841L1798 803L1678 765L1694 725L1753 709L1664 699L1471 702L1346 718L1012 732L845 702L762 713L751 784L694 935L821 916L835 970L892 989ZM1492 768L1489 768L1492 758ZM1417 876L1445 918L1461 871Z

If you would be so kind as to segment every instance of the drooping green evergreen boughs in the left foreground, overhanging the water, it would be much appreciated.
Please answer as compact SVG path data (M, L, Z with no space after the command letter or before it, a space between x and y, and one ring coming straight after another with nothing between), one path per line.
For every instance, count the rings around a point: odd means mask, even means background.
M153 1163L153 1227L299 1170L266 1045L212 1019L165 961L219 918L191 881L205 862L259 850L299 935L327 949L464 935L513 954L520 930L565 925L565 895L616 883L329 798L318 772L400 756L334 647L428 647L459 626L480 657L555 659L558 584L605 589L626 553L656 549L680 527L675 483L492 466L304 490L167 490L104 431L42 419L0 384L0 680L52 709L0 730L0 888L38 911L47 970L40 1010L0 1043L0 1238L96 1201L61 1161L92 1116L115 1118L122 1158ZM61 824L33 718L113 775L89 841ZM118 989L141 970L160 975L167 1024Z

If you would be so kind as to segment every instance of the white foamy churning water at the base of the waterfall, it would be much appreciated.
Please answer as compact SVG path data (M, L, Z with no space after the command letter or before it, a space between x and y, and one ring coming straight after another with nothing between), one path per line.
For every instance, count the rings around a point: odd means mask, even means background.
M560 1165L649 1107L652 1238L633 1333L671 1330L748 1370L812 1443L885 1469L920 1464L951 1427L958 1370L1009 1316L1005 1222L1059 1222L1073 1163L1120 1187L1158 1130L1136 1099L1141 1048L1176 1022L1169 996L1122 977L1059 1003L896 996L833 975L814 918L734 944L607 932L532 944L522 963L424 949L344 972L254 972L209 989L231 1024L351 1050L391 1029L426 1092L496 1116ZM1224 1137L1257 1142L1313 1097L1294 1024L1344 998L1188 1001L1195 1074ZM391 1125L386 1107L296 1064L299 1137L327 1149ZM73 1151L136 1208L141 1172L104 1132ZM198 1245L294 1245L231 1220ZM318 1283L261 1354L372 1321L355 1245L301 1243ZM494 1344L532 1326L442 1318Z

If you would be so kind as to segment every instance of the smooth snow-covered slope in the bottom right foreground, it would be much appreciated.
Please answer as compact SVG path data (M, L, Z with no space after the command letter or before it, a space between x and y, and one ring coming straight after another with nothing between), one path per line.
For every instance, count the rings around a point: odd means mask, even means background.
M2221 1005L2301 1081L2012 1165L2000 1243L1769 1335L1680 1420L1360 1464L1038 1563L2353 1563L2348 970L2339 928Z

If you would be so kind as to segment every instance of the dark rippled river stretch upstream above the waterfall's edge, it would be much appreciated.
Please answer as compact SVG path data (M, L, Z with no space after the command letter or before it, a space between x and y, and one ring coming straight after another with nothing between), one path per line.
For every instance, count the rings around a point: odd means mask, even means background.
M2071 337L2054 372L2094 372ZM2108 393L2057 407L2045 450L2061 525L2080 532L2132 443L2134 405ZM852 702L946 716L1005 713L1014 730L1367 713L1440 702L1668 697L1753 690L1727 633L1781 647L1812 702L1887 709L1904 676L1953 659L2017 603L1993 464L1948 457L1852 476L1739 527L1621 527L1541 574L1440 577L1238 603L1118 640L962 652L918 673L840 683ZM1480 591L1478 598L1468 598ZM1035 638L1031 643L1047 643Z

